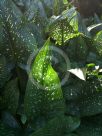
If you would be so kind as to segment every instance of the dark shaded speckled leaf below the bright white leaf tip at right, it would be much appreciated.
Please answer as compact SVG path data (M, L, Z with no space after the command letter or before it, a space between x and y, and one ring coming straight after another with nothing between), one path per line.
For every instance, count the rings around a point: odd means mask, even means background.
M78 86L77 84L78 82L73 84L77 89L66 88L65 95L69 100L67 112L81 117L100 114L102 112L102 79L100 81L89 79L84 84L80 82Z

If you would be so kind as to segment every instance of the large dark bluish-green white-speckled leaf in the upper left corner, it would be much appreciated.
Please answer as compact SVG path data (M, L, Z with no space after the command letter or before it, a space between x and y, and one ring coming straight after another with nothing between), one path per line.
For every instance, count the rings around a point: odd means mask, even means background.
M37 49L34 35L22 19L23 14L12 0L1 5L0 54L13 63L26 63L29 55ZM5 7L5 8L4 8Z

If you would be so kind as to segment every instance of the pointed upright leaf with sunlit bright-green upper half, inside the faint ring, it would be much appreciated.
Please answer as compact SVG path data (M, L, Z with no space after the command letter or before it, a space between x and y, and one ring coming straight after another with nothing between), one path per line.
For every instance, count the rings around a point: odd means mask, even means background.
M25 94L25 113L28 118L64 111L63 94L57 73L50 64L48 39L33 62ZM33 82L32 82L33 81Z

